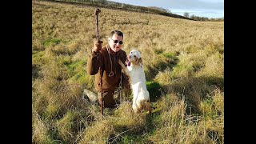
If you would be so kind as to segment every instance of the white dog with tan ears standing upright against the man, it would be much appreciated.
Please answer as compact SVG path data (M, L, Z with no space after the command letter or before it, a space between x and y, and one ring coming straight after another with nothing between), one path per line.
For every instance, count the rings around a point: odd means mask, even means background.
M127 56L127 60L129 61L127 67L121 60L119 60L118 63L130 77L130 84L134 94L133 110L135 113L140 112L141 110L146 110L151 113L150 93L146 90L146 78L141 54L138 50L132 50Z

